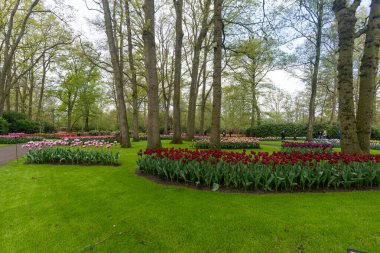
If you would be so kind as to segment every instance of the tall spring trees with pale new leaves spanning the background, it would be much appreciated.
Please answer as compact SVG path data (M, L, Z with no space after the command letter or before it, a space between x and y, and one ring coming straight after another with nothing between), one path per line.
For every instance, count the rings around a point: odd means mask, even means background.
M343 151L369 152L379 3L367 14L360 2L87 0L98 14L94 43L69 28L65 6L6 1L0 115L20 111L68 131L115 116L123 147L146 127L151 148L160 129L181 143L183 129L191 140L211 128L217 149L222 127L307 121L311 139L316 121L339 121ZM281 70L306 89L295 96L271 84Z

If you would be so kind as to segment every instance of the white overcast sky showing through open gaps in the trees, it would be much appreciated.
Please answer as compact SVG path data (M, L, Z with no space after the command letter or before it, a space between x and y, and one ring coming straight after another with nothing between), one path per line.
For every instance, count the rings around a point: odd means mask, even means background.
M47 4L53 4L54 1L57 0L47 0ZM93 18L98 13L96 11L89 11L86 7L85 0L64 0L67 5L72 6L75 10L76 20L72 22L73 28L81 34L84 34L90 41L95 41L99 38L97 35L97 31L92 28L86 18ZM369 6L371 0L363 0L362 5ZM91 0L87 0L87 4L91 7L94 7ZM270 72L267 76L274 85L278 88L284 89L290 93L294 93L296 91L301 91L304 89L304 84L300 81L300 79L293 77L290 73L284 70L276 70Z

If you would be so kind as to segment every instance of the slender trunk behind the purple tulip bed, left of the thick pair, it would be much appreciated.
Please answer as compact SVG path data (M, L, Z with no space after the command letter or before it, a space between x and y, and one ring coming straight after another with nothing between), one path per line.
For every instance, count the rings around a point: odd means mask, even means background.
M318 2L318 21L317 21L317 36L315 47L315 58L313 66L313 76L311 79L311 97L309 103L309 120L307 124L307 141L313 140L313 127L315 122L315 98L317 96L317 83L319 73L319 63L321 58L321 43L322 43L322 26L323 26L323 8L324 0Z

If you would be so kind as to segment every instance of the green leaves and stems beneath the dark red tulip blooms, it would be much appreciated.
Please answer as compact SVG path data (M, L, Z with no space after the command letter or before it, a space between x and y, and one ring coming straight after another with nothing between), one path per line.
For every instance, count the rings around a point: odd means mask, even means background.
M295 164L228 163L222 160L186 161L145 156L137 161L140 170L171 181L193 185L223 185L245 190L294 191L352 187L377 187L380 167L375 162L343 161L332 165L320 161Z

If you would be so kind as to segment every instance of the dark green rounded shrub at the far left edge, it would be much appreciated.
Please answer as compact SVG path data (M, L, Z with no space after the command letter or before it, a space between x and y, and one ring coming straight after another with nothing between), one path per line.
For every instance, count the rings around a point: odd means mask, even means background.
M40 123L29 119L25 114L18 112L4 113L4 119L9 122L10 133L38 133Z

